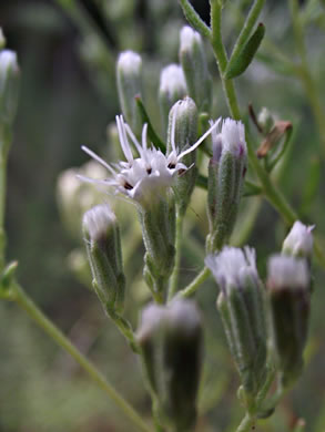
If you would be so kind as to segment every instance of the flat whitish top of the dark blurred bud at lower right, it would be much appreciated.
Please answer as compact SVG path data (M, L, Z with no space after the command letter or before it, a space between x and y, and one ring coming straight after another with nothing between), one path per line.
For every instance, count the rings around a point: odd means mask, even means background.
M309 285L309 271L303 258L274 255L268 259L267 270L272 289L307 288Z

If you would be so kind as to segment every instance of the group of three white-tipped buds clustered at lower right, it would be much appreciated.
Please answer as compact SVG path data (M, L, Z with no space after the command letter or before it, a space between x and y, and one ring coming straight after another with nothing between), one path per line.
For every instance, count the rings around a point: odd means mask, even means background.
M265 383L270 362L275 362L284 387L302 372L311 308L312 229L301 222L294 224L283 253L268 260L266 288L253 249L224 247L205 260L220 287L217 309L241 376L240 395L248 411Z

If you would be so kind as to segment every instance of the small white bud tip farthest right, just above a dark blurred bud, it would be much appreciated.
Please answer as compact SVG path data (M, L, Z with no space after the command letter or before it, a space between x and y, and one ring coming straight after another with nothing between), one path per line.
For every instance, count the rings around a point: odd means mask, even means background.
M296 220L283 243L284 253L294 256L309 257L313 250L313 229L315 225L306 226L299 220Z

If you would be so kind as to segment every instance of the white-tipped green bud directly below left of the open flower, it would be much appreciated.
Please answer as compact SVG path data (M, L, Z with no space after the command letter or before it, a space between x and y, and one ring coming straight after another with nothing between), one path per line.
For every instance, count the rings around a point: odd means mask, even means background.
M116 217L109 205L98 205L84 214L82 225L95 294L106 311L121 312L125 277Z

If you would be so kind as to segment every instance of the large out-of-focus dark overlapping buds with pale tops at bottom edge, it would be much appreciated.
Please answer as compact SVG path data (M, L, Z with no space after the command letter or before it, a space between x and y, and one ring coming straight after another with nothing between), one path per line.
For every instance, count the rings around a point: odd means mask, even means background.
M196 418L202 362L201 319L195 305L175 300L167 307L146 307L138 341L162 424L187 432Z

